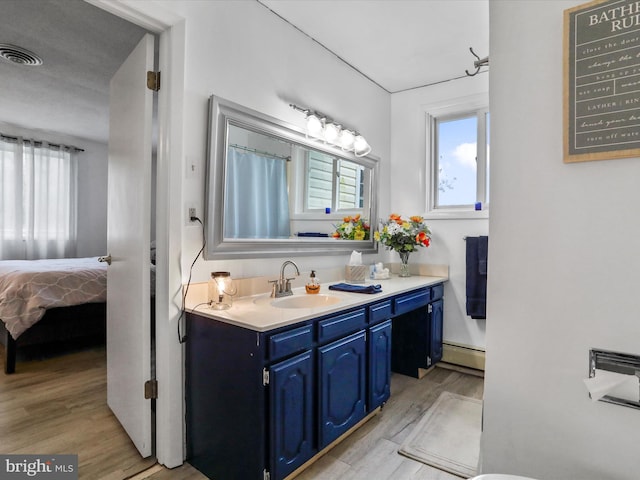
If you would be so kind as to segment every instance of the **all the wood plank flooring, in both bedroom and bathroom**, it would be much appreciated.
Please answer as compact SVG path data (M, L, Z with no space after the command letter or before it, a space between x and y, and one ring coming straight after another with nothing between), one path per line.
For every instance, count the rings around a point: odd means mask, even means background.
M443 391L482 398L483 379L440 367L420 380L394 374L384 409L297 480L459 480L397 453ZM0 453L78 454L87 480L207 478L187 463L170 470L140 458L106 396L104 348L18 362L15 374L0 374Z

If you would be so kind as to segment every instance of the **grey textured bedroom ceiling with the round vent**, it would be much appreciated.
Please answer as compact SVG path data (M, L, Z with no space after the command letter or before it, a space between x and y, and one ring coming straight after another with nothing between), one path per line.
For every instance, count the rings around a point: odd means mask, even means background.
M145 31L82 0L1 0L0 43L42 66L0 60L0 120L106 142L109 80Z

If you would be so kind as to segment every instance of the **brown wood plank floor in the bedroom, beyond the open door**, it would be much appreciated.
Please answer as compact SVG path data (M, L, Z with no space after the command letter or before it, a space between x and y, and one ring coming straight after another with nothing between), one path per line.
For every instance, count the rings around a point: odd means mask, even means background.
M0 432L3 454L77 454L82 479L121 480L155 463L107 406L104 347L19 359L16 373L0 373Z

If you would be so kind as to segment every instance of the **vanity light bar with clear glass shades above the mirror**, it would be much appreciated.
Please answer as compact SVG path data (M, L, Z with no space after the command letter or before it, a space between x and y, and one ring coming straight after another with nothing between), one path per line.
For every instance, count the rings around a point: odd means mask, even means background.
M326 115L309 108L302 108L293 103L289 106L306 116L306 134L325 143L353 152L356 157L363 157L371 152L371 146L357 131L344 128L341 124L327 118Z

